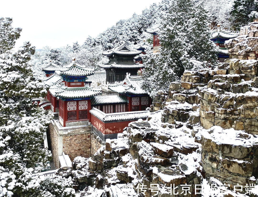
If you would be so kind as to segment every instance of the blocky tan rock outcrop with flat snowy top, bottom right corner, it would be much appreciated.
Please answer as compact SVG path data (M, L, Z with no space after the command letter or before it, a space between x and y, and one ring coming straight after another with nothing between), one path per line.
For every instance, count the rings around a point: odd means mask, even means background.
M212 127L195 135L202 148L206 176L233 185L255 184L258 178L258 138L243 131Z

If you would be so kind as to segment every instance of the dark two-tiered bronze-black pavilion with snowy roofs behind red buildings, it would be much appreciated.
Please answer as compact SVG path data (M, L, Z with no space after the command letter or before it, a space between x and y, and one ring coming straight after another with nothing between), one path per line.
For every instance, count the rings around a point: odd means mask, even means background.
M126 73L136 75L143 66L134 62L134 57L142 51L129 48L125 42L119 42L113 49L103 52L109 62L101 65L106 70L106 82L123 81Z

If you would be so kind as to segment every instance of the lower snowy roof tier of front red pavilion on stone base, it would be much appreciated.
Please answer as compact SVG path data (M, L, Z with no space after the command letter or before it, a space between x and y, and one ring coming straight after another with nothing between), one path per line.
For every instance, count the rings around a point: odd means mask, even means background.
M88 87L71 88L63 86L64 89L56 93L56 96L61 98L88 98L101 94L102 91L99 89L93 89Z

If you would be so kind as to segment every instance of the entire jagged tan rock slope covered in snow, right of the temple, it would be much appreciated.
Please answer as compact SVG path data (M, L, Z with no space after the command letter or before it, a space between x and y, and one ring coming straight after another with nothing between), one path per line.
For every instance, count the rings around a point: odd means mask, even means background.
M227 43L234 59L185 71L168 92L158 92L146 121L130 123L118 139L89 159L75 158L74 169L60 174L72 176L77 188L87 185L80 196L195 197L197 184L207 196L257 196L258 186L245 190L258 180L258 37L250 37L256 27L251 23L241 30L247 35ZM241 194L232 191L237 184Z

